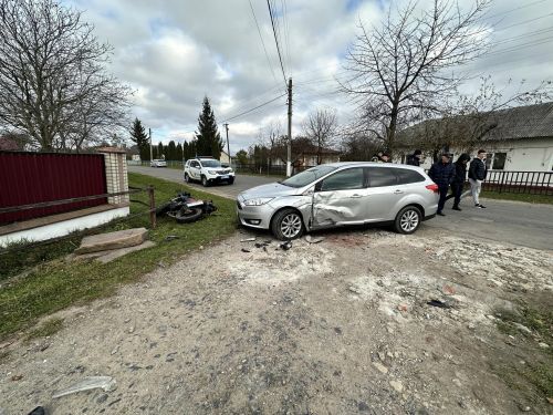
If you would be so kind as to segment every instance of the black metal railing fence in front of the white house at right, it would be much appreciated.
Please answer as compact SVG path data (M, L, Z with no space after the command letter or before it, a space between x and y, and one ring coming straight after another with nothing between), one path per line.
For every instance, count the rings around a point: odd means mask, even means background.
M553 196L553 172L489 170L482 189Z

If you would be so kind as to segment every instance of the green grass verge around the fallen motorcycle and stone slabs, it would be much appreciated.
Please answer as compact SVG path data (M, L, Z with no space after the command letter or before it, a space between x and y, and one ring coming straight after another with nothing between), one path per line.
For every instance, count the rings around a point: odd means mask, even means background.
M155 187L156 204L167 201L177 191L190 191L195 197L212 199L218 211L194 224L178 225L169 218L158 218L157 228L149 230L148 239L156 246L132 252L113 262L103 264L95 261L69 262L63 256L66 248L54 242L49 245L58 252L55 259L25 262L32 267L22 278L8 279L0 290L0 339L30 326L36 319L69 305L80 304L113 294L122 283L137 281L153 271L159 262L171 264L184 253L199 246L222 239L236 229L234 201L222 197L197 191L171 181L157 179L135 173L128 174L129 185ZM132 195L133 199L146 201L147 194ZM145 211L147 208L132 204L131 212ZM111 224L103 231L122 230L135 227L149 227L147 215ZM175 235L178 239L166 241L165 237ZM79 239L80 242L80 239ZM79 245L79 243L75 243ZM28 248L33 250L34 248ZM25 250L21 247L18 255ZM32 256L25 253L28 258ZM34 256L32 258L41 258ZM17 266L18 270L21 267ZM14 271L10 271L13 273Z

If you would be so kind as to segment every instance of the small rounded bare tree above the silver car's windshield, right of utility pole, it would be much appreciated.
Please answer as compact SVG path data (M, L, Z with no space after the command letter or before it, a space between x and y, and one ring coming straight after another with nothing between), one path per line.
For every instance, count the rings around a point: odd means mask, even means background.
M303 122L303 134L316 147L316 164L322 163L322 151L336 143L336 129L338 126L336 112L334 110L319 108L311 112Z

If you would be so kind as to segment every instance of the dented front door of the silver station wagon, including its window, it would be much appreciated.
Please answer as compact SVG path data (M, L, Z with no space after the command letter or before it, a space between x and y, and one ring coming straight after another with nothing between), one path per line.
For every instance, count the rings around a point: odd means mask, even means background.
M312 228L363 224L367 217L366 174L363 167L347 168L315 185Z

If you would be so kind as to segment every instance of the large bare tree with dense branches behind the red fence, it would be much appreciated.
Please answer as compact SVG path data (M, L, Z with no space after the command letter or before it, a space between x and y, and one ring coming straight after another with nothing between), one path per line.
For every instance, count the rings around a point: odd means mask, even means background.
M0 123L43 151L81 148L123 123L129 90L105 72L112 48L55 0L0 0Z

